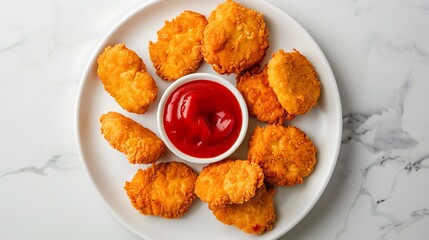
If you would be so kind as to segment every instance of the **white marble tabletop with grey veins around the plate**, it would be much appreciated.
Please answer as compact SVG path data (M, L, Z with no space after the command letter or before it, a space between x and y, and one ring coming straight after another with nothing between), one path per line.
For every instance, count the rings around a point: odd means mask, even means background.
M142 2L0 0L0 239L138 239L90 185L73 115L92 51ZM427 239L429 2L269 2L320 44L344 115L332 179L282 239Z

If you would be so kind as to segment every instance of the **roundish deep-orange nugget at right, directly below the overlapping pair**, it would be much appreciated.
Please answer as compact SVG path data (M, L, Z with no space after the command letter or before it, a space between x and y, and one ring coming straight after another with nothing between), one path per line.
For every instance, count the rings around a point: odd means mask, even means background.
M258 163L265 181L273 185L302 183L313 172L316 147L297 127L256 127L249 142L248 159Z

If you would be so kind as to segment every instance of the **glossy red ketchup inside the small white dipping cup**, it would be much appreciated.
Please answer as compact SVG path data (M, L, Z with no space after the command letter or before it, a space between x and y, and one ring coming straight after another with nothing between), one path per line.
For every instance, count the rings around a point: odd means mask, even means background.
M242 117L237 99L226 87L195 80L171 93L163 121L177 149L193 157L210 158L234 144Z

